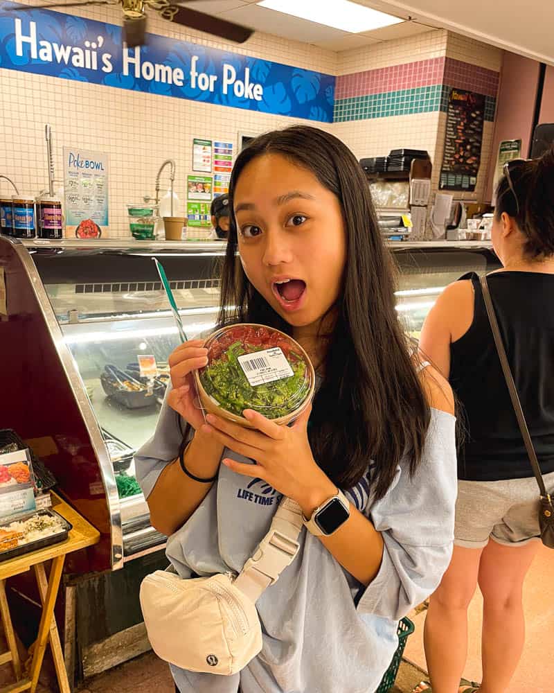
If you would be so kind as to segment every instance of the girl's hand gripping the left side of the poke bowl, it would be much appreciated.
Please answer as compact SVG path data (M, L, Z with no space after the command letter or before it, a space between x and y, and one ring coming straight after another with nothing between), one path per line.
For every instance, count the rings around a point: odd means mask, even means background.
M204 423L204 414L196 400L193 371L207 363L208 349L204 349L204 340L185 342L169 357L172 390L168 395L168 404L181 414L195 431Z

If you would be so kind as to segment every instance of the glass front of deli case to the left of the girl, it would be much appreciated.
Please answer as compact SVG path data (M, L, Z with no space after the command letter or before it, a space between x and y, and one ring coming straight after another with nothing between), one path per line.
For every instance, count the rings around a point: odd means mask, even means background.
M180 343L152 258L163 265L188 337L215 325L222 245L186 252L33 248L35 265L89 397L114 467L129 557L163 543L150 527L133 455L154 432Z

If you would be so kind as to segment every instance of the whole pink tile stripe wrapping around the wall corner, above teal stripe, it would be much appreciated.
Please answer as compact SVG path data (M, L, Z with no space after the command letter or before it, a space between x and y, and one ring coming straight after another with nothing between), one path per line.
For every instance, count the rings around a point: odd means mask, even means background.
M499 73L452 58L431 58L337 77L334 98L445 84L497 96Z

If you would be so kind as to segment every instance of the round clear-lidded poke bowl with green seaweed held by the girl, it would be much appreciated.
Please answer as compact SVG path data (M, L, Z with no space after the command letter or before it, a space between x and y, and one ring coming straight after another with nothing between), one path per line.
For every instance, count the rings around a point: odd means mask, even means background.
M238 324L206 342L208 365L195 371L200 403L227 421L253 428L242 412L253 409L281 426L305 410L314 396L310 358L292 337L274 328Z

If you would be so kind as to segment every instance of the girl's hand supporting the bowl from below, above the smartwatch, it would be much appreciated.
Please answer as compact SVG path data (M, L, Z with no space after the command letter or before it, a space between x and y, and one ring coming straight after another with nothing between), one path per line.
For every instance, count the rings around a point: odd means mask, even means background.
M309 517L314 509L337 493L337 487L317 466L312 455L307 438L311 410L312 407L307 407L292 426L278 426L258 412L245 410L244 418L256 426L256 430L208 414L208 423L201 431L256 462L243 464L225 458L223 464L238 474L263 479L279 493L296 500Z

